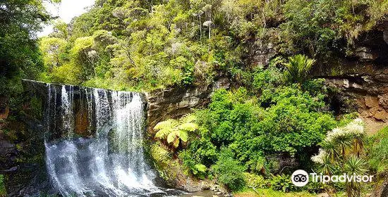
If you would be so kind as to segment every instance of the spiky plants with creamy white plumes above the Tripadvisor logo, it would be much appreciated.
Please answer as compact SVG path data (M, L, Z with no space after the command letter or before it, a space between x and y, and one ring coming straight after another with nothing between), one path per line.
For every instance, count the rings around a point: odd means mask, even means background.
M360 119L349 122L345 127L333 129L327 133L322 149L312 160L318 164L318 169L324 174L332 175L334 172L363 175L368 171L363 158L365 132L363 121ZM335 185L332 189L336 193ZM327 189L327 193L329 189ZM346 183L348 197L360 196L360 183Z

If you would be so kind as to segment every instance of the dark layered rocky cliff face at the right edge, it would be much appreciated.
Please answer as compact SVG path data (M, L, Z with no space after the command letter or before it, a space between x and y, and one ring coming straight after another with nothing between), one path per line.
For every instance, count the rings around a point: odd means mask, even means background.
M388 28L380 28L360 35L346 57L320 63L314 72L353 103L347 107L360 113L370 132L388 125Z

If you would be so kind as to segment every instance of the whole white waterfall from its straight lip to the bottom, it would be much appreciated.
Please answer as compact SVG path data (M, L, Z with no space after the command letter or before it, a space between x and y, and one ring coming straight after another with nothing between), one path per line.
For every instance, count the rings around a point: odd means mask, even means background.
M47 85L46 165L52 190L61 196L150 196L164 191L143 150L144 105L140 94ZM82 99L75 99L77 96ZM56 96L59 94L60 96ZM59 99L60 98L60 99ZM76 102L85 101L87 130L75 132ZM56 116L61 115L59 121ZM61 138L49 137L57 134ZM58 134L57 134L58 135Z

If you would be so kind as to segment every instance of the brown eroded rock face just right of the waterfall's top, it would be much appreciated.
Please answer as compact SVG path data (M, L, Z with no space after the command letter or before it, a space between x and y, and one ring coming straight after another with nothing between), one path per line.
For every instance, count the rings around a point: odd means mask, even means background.
M150 134L157 122L190 113L192 108L202 108L210 102L216 89L229 89L228 77L219 77L212 84L192 87L169 87L146 93L148 103L147 126Z

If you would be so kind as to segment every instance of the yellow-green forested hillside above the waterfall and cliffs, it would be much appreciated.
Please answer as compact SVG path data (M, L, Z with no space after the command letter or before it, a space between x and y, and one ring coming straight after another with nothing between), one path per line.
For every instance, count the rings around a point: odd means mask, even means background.
M276 44L286 56L345 53L387 6L372 0L98 0L41 39L41 79L114 89L211 82L220 70L249 71L255 40Z

